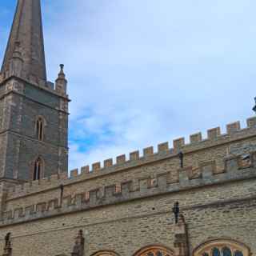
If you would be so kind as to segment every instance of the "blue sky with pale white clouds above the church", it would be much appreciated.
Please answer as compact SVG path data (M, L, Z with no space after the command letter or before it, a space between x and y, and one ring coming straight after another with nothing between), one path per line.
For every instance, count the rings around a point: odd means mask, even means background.
M0 2L2 62L15 0ZM70 165L254 115L254 0L42 0L48 80L65 64Z

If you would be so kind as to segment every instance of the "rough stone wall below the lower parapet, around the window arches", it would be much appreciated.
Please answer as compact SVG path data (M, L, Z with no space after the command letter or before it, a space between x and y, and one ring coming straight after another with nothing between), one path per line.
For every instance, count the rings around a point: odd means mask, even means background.
M255 169L252 172L255 174ZM114 250L128 256L152 244L173 248L171 207L179 201L188 226L190 251L210 238L232 238L244 242L254 255L255 185L255 178L250 178L146 198L140 196L69 214L42 214L34 221L2 226L0 246L4 234L10 231L13 256L69 255L73 238L82 229L86 238L86 255L98 250ZM70 207L74 210L74 206Z

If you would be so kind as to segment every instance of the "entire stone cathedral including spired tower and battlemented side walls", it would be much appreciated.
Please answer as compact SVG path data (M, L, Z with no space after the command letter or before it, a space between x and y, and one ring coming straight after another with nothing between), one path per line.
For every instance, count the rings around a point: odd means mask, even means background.
M256 256L256 118L68 174L41 17L18 0L0 73L0 255Z

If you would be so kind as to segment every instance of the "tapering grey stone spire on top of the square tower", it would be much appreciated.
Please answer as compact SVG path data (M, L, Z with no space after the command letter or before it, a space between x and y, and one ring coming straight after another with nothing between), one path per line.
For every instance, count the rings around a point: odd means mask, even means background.
M10 76L10 62L19 42L23 61L22 76L33 81L46 82L46 61L42 34L40 0L18 0L1 73ZM15 46L16 45L16 46Z

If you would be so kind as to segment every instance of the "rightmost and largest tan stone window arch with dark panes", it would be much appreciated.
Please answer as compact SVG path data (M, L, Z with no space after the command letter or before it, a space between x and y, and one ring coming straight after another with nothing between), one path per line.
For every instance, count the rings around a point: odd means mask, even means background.
M193 256L250 256L250 250L241 242L216 239L198 246Z

